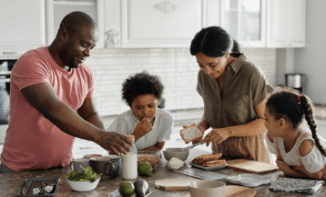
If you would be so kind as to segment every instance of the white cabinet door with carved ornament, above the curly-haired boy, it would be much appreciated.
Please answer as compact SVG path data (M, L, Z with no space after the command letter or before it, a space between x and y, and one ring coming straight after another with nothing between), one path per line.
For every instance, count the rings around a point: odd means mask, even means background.
M189 47L212 14L207 0L121 2L122 47Z

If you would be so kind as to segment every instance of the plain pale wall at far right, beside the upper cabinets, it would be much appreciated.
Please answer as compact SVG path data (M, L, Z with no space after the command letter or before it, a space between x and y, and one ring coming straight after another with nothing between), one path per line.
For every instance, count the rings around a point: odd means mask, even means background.
M306 45L304 48L277 50L278 83L284 74L306 74L306 92L315 104L326 104L326 1L307 1Z

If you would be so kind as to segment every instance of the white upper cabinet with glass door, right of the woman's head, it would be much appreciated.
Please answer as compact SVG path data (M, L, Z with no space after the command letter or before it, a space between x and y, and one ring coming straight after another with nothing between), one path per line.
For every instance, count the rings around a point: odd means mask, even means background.
M242 47L303 47L306 0L220 0L220 25Z

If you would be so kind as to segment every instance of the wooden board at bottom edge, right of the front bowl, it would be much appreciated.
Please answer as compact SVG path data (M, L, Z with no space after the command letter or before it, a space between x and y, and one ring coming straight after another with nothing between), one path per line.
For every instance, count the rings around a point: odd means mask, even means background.
M242 187L236 185L225 186L223 197L253 197L256 191L249 187ZM183 197L190 197L190 193Z

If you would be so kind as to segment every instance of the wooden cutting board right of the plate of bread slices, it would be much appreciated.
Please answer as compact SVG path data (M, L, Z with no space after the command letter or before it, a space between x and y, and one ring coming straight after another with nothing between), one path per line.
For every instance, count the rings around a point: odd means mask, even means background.
M279 170L277 165L272 165L270 163L261 163L253 160L238 159L228 161L229 169L250 172L250 173L268 173Z

